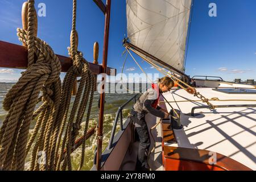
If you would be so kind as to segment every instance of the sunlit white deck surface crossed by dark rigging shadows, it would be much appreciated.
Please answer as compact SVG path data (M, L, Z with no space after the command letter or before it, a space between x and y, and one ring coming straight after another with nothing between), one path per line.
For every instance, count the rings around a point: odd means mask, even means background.
M220 101L210 101L213 105L256 104L256 94L227 94L212 88L197 88L197 91L209 99L217 97ZM217 152L256 170L256 107L198 109L196 117L192 117L192 107L206 105L199 98L181 89L163 95L175 109L181 110L184 126L174 130L177 143L165 145ZM171 109L168 104L166 107Z

